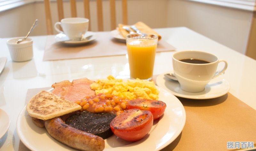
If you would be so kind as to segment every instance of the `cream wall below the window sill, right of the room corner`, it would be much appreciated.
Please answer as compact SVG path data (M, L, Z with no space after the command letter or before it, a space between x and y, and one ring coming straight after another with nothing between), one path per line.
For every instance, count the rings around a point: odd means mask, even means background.
M167 26L187 26L229 48L245 54L252 12L171 0Z

